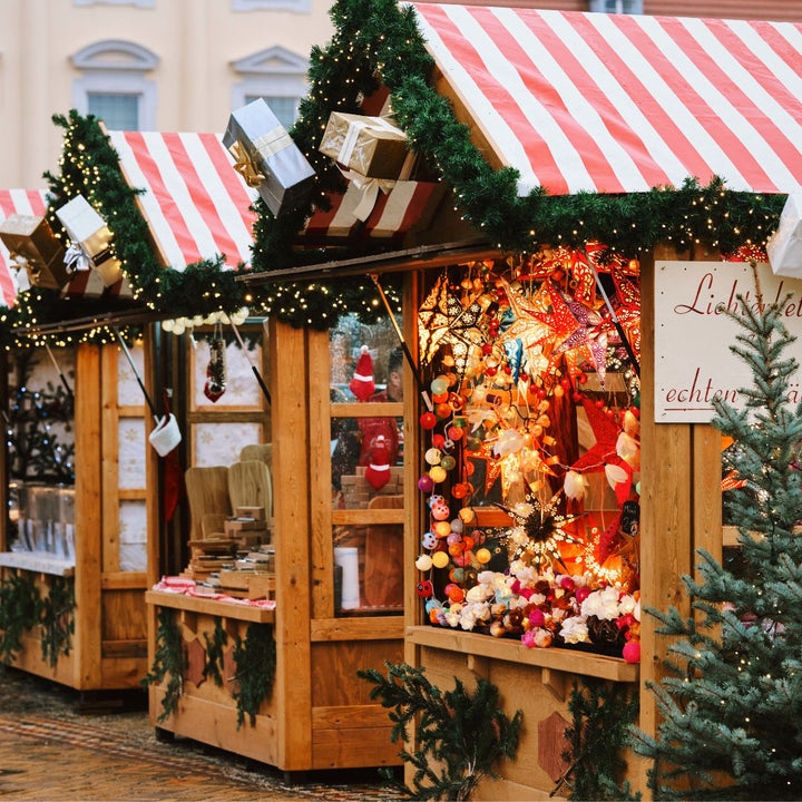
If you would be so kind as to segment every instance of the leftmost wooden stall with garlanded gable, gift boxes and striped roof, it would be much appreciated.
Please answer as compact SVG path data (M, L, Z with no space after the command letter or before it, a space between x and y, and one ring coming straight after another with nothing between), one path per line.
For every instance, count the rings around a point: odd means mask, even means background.
M28 384L38 390L39 381L68 388L69 398L48 401L47 407L39 400L45 391L37 392L33 407L39 418L52 415L60 402L75 409L66 423L77 479L74 489L52 492L37 482L18 488L20 503L2 529L6 609L28 609L27 600L38 594L45 602L41 615L49 618L39 620L36 605L25 622L4 618L4 656L11 665L81 692L139 689L150 665L145 591L160 576L159 559L174 548L170 536L180 525L174 482L183 456L175 449L157 456L153 439L156 420L167 420L172 379L170 353L153 323L164 315L155 310L162 301L182 311L193 286L212 297L193 302L195 311L208 317L217 309L215 282L225 281L222 274L248 254L253 198L231 169L218 136L113 133L107 138L101 124L75 113L60 124L67 134L61 175L51 176L51 195L12 192L0 197L4 215L23 215L3 224L7 244L0 250L0 272L12 291L7 303L16 302L3 321L17 320L13 335L25 346L38 346L35 362L41 374L26 381L12 371L13 389L27 393ZM188 150L199 174L182 172ZM144 168L134 154L145 156ZM155 192L148 179L155 182ZM146 186L148 193L137 194ZM75 221L72 228L65 222L65 209L84 199L76 197L80 192L94 202L92 207L85 205L95 226L91 236L105 232L104 248L113 238L110 257L89 234L85 238L78 233ZM65 203L67 198L72 199ZM80 241L82 253L65 253L61 242L67 236L74 246ZM71 275L65 267L70 257ZM28 266L20 267L26 260ZM109 268L119 271L120 265L127 276L111 282ZM18 270L12 273L10 267ZM19 295L13 281L20 283ZM126 340L128 345L120 349ZM47 372L48 360L57 370L63 363L61 375ZM180 404L179 397L175 403ZM184 424L182 415L179 430ZM33 472L32 478L40 477ZM60 506L50 498L53 493L60 496ZM53 503L59 511L51 509ZM31 554L43 550L50 554ZM19 599L21 604L10 604ZM56 655L49 646L53 638L60 649Z

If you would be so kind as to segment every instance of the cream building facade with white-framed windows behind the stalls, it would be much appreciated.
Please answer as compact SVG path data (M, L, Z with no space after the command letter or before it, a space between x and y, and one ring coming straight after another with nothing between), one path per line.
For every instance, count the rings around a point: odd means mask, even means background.
M76 108L109 129L219 131L265 97L291 124L329 0L0 0L0 187L46 188Z

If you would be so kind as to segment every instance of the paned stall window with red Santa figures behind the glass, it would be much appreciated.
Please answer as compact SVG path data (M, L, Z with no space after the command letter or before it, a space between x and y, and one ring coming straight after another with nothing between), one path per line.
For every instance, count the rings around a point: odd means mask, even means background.
M403 352L390 321L343 317L329 338L331 544L336 615L403 606Z

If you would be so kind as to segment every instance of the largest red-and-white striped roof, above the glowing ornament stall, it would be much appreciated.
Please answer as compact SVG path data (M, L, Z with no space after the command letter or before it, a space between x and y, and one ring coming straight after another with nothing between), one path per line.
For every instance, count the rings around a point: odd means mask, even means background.
M521 195L802 189L802 25L413 6Z

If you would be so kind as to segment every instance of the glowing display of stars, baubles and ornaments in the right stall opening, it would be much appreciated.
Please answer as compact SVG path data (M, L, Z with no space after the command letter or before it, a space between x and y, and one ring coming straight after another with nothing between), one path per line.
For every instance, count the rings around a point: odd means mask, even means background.
M636 659L638 271L589 244L447 270L424 296L432 624Z

